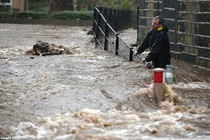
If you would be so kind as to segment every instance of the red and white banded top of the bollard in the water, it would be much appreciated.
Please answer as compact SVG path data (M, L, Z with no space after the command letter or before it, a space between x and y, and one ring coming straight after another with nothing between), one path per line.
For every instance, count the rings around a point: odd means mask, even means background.
M155 68L153 76L154 83L165 83L165 69Z

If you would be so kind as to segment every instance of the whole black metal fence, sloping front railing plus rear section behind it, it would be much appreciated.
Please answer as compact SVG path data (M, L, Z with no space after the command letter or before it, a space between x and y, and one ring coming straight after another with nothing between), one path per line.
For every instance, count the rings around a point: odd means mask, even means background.
M113 9L111 9L111 11L113 11ZM110 13L113 13L111 11L107 8L94 8L93 32L96 47L102 47L104 50L112 52L115 55L120 55L129 61L139 61L140 57L133 58L133 48L126 45L119 37L119 34L112 28L112 26L114 26L116 30L119 30L127 27L126 25L131 22L131 20L128 20L131 19L131 11L117 11L114 12L115 14L117 13L116 15L107 16ZM121 21L117 22L117 20ZM115 24L113 21L115 21Z

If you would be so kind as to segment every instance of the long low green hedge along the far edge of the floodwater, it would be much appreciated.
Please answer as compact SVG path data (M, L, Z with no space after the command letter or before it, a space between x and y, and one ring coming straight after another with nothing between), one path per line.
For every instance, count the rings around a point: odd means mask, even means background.
M14 19L60 19L60 20L92 20L93 11L61 11L48 15L46 12L0 12L0 19L14 18Z

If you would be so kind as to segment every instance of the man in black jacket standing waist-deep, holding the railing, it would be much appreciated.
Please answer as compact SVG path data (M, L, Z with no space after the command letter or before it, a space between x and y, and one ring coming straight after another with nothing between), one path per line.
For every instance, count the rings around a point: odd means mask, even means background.
M168 28L163 23L164 19L161 16L152 19L152 29L147 33L140 47L134 50L134 55L141 54L149 48L150 52L146 58L142 59L142 62L152 61L155 68L165 69L166 65L171 64L171 57Z

